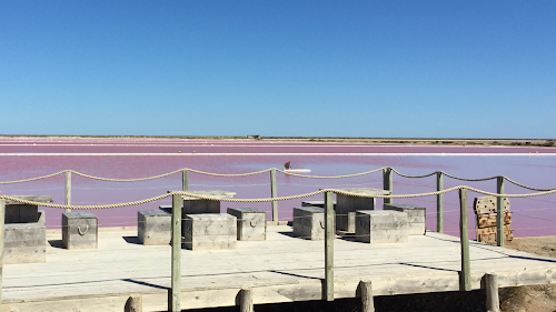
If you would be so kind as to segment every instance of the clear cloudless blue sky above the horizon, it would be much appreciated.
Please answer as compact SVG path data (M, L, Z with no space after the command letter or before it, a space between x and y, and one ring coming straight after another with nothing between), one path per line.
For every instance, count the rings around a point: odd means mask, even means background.
M547 138L556 1L0 1L0 134Z

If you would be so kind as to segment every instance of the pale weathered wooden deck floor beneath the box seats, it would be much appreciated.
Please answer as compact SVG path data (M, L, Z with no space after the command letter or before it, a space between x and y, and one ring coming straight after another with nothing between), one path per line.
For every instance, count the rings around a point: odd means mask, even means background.
M138 243L137 231L101 231L97 250L66 250L61 234L47 235L47 262L3 268L2 311L123 311L140 293L143 311L166 311L170 246ZM182 309L236 305L241 288L255 304L321 300L324 241L295 238L287 225L268 227L267 241L237 250L182 251ZM556 282L556 260L470 242L471 286L488 273L499 286ZM375 295L459 289L459 240L427 232L408 243L335 240L335 298L356 295L360 280Z

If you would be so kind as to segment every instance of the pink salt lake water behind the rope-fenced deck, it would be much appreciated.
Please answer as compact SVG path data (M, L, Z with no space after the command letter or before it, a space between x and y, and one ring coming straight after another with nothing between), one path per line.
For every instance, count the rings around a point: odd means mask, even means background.
M27 179L72 169L105 178L143 178L191 168L218 173L244 173L282 168L292 161L314 175L340 175L393 167L405 174L426 174L437 170L464 178L507 175L537 188L556 188L556 149L505 147L429 147L321 142L268 142L247 140L179 139L91 139L91 138L0 138L0 181ZM320 180L277 174L278 195L311 192L319 188L381 188L381 173ZM468 184L496 191L496 180L463 182L445 179L445 188ZM269 173L245 178L217 178L189 173L190 190L225 190L237 198L268 198ZM48 194L56 203L64 201L63 174L28 183L0 185L2 194ZM103 204L136 201L181 190L181 174L145 182L105 182L72 177L72 204ZM420 193L436 190L435 177L406 179L394 175L394 192ZM529 191L506 182L506 193ZM469 193L469 205L478 194ZM309 199L307 199L309 200ZM310 200L321 200L321 195ZM427 229L436 229L436 197L396 200L427 208ZM290 220L301 200L279 202L280 220ZM556 195L512 199L516 236L556 234ZM95 211L101 227L136 225L137 211L170 204L157 202ZM445 229L458 232L458 194L445 195ZM222 203L246 207L245 203ZM381 207L381 201L378 200ZM270 203L248 204L270 211ZM474 224L469 207L469 224ZM60 228L62 210L46 208L49 228ZM270 215L269 215L270 217ZM473 236L474 233L470 233Z

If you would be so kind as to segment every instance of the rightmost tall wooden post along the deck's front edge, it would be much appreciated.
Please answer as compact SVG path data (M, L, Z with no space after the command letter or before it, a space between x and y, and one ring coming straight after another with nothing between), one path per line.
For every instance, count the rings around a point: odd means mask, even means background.
M471 290L469 264L469 229L467 220L467 189L459 190L459 241L461 243L461 271L459 272L459 290Z

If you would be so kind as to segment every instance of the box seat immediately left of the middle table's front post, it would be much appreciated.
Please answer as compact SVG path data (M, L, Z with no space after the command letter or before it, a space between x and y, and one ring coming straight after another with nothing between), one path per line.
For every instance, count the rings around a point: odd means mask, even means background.
M137 238L145 245L167 245L172 235L171 213L165 210L137 212Z

